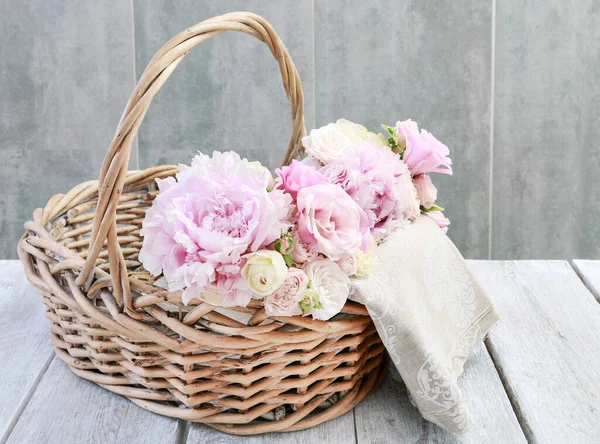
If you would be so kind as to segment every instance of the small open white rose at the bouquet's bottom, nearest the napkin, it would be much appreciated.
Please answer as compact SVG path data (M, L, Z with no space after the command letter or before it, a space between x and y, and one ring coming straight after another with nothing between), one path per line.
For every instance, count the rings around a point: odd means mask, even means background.
M346 273L330 259L309 262L304 266L304 272L310 280L307 294L316 299L305 314L322 321L338 314L350 293L350 279Z

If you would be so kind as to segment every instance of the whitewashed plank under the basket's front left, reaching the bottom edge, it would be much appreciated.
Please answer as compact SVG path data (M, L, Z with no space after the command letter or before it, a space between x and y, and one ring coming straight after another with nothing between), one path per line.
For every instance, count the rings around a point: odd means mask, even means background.
M177 425L75 376L54 358L8 443L175 443Z

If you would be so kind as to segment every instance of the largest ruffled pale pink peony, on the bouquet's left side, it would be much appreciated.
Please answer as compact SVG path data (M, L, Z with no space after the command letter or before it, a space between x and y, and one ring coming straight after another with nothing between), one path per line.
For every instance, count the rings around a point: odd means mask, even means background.
M164 274L182 299L223 294L222 305L251 299L240 276L242 256L275 241L290 226L291 197L267 191L271 175L234 152L198 154L175 178L157 180L160 193L142 224L139 259Z

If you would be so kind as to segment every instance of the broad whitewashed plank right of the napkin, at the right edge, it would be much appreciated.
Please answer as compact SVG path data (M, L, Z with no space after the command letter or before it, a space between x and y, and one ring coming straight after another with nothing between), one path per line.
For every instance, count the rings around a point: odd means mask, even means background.
M600 442L600 305L565 261L473 262L504 326L490 355L531 442Z

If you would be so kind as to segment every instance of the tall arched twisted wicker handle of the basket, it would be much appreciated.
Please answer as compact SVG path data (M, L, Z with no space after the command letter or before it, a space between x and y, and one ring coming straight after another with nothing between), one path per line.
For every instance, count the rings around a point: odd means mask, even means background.
M264 18L249 12L232 12L205 20L179 33L169 40L150 60L138 82L117 132L110 144L108 153L100 169L98 203L92 226L88 256L77 285L84 285L102 251L104 241L108 244L108 260L113 282L114 296L123 301L130 314L133 314L129 277L123 252L117 240L117 204L123 191L127 165L131 154L133 138L148 111L152 99L173 73L177 65L194 46L225 31L239 31L250 34L267 44L279 63L285 92L292 107L292 137L283 164L287 165L302 150L301 139L306 135L304 126L304 95L298 71L287 49Z

